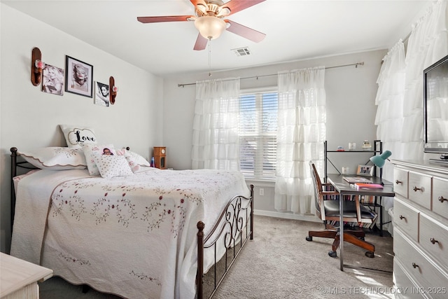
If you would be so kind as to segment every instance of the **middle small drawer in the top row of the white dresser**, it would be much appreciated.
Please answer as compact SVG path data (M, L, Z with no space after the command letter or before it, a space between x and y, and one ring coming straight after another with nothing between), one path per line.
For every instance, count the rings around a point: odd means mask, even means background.
M409 172L409 200L431 209L431 176Z

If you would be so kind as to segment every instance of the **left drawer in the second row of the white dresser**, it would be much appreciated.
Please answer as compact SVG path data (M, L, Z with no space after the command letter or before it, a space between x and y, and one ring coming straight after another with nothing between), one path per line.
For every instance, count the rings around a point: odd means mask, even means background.
M393 201L393 223L415 242L419 241L419 211L397 200L396 197Z

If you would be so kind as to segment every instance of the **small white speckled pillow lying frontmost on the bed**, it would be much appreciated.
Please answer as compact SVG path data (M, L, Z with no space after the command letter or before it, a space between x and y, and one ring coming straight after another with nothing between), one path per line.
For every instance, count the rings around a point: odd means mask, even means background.
M134 174L123 155L94 155L99 174L104 178L114 176L130 176Z

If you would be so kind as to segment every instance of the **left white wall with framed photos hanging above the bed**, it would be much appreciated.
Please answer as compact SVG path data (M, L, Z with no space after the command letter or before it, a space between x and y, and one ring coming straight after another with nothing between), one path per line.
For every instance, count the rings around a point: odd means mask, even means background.
M10 147L31 150L66 146L59 124L94 128L100 143L130 146L145 158L162 143L162 79L54 27L0 4L0 176L1 251L10 239ZM65 55L93 65L94 81L118 86L116 104L106 108L93 99L64 92L50 95L30 81L31 50L42 60L65 69Z

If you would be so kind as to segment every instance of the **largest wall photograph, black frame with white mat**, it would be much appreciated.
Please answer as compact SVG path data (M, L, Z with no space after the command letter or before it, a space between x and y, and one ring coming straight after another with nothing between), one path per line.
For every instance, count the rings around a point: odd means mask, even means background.
M65 56L65 91L92 97L93 67L70 56Z

